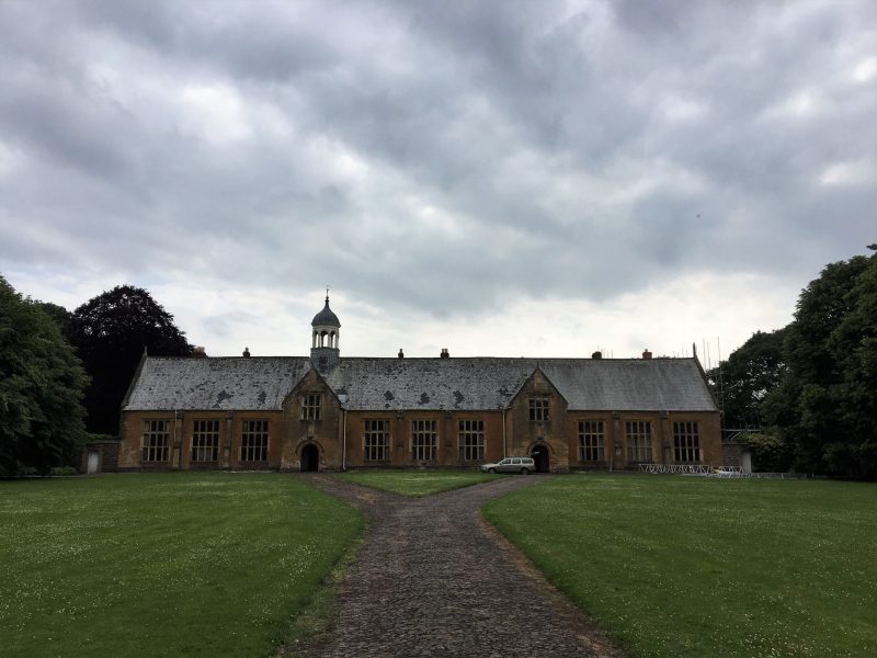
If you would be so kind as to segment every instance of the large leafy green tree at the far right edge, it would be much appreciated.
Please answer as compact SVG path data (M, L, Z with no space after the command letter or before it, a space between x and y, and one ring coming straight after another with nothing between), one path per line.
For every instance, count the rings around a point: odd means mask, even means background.
M877 477L877 254L832 263L810 282L784 353L788 373L765 411L798 468Z

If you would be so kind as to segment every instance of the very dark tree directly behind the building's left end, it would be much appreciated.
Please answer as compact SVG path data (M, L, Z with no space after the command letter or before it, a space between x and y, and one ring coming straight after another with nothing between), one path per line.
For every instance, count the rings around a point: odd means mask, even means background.
M73 310L69 337L92 378L86 390L88 429L104 434L118 433L119 406L144 349L157 356L192 352L173 316L132 285L116 286Z

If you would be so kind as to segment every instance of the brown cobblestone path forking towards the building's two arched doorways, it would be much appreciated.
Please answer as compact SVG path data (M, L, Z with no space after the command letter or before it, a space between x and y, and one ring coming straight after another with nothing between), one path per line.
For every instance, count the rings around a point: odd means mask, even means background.
M304 476L360 508L369 527L330 629L298 655L622 656L492 527L479 508L539 477L403 498Z

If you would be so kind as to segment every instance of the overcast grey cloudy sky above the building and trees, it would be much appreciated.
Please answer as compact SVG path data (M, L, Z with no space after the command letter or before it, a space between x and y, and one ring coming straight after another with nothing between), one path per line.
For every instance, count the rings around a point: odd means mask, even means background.
M210 355L715 362L876 207L874 0L0 0L0 273Z

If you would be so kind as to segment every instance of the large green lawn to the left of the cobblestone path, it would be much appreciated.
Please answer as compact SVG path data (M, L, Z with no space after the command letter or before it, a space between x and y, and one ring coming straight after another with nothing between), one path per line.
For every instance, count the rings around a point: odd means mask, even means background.
M0 481L0 655L271 656L361 527L277 474Z

